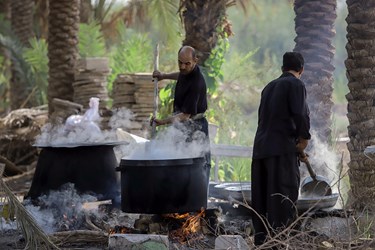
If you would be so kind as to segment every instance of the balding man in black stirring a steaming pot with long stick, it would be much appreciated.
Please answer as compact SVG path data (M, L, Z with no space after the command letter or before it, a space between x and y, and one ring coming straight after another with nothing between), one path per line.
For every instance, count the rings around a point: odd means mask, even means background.
M189 133L188 140L192 140L196 131L201 131L204 133L205 141L209 146L208 122L205 118L207 86L197 61L195 49L191 46L183 46L178 51L179 72L153 72L153 77L158 80L171 79L177 80L177 83L174 93L173 114L164 119L153 117L151 123L154 122L157 126L182 124ZM210 167L209 150L205 153L205 158L207 165Z

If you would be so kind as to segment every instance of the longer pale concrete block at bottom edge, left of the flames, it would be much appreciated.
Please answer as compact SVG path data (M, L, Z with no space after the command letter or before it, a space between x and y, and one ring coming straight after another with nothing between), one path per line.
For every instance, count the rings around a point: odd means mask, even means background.
M168 250L168 236L157 234L112 234L109 236L110 250Z

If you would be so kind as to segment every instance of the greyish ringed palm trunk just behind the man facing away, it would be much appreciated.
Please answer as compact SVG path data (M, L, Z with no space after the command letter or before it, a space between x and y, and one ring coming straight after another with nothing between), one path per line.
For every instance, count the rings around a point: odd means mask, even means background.
M305 58L302 80L306 83L307 102L310 108L311 128L318 138L330 143L332 125L333 56L335 36L336 0L296 0L294 2L294 51Z

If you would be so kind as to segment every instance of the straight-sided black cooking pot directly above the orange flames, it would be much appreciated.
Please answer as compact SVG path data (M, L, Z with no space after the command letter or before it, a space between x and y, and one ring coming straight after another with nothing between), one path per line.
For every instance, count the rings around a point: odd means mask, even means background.
M207 207L209 166L204 157L163 160L122 159L121 209L163 214Z

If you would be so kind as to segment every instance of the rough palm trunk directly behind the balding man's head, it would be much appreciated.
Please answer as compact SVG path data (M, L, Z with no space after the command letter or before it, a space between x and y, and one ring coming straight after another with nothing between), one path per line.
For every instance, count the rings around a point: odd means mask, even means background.
M227 0L180 1L185 25L183 45L196 49L198 64L204 65L218 39L217 28L221 26L227 8Z

